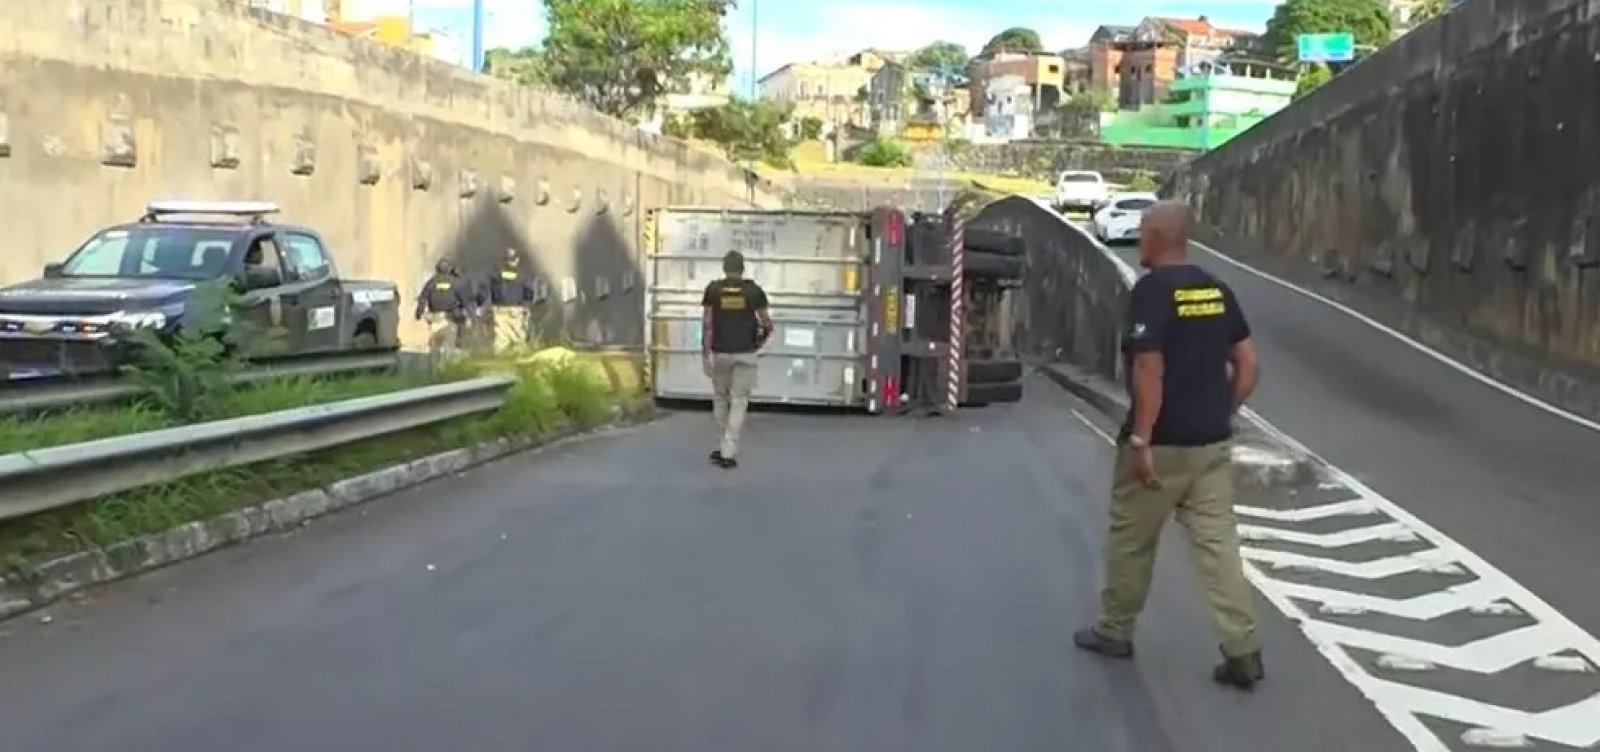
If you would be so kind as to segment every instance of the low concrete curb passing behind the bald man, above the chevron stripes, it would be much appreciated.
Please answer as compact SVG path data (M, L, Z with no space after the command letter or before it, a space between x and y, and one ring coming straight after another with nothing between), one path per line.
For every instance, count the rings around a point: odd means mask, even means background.
M1037 370L1050 381L1086 402L1114 421L1128 416L1128 397L1122 387L1067 363L1043 363ZM1261 416L1243 411L1243 429L1235 438L1234 467L1237 480L1261 488L1302 486L1328 478L1326 467L1298 445L1290 445Z

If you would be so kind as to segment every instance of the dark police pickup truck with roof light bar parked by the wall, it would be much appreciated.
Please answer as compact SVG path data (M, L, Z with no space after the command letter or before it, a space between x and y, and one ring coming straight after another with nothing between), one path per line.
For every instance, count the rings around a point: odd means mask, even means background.
M270 202L152 202L94 234L43 278L0 286L0 379L115 371L128 334L178 331L208 282L240 293L234 315L274 357L398 346L395 285L344 280L322 237L267 221Z

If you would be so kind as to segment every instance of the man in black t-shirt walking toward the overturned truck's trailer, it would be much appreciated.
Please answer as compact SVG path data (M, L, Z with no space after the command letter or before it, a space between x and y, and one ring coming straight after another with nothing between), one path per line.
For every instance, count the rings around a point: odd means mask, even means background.
M773 334L773 320L766 312L766 291L744 278L744 256L728 251L722 258L723 278L706 285L701 306L706 307L701 325L701 357L706 376L712 384L712 411L722 443L710 453L712 464L738 467L739 434L744 430L744 411L755 390L755 350Z

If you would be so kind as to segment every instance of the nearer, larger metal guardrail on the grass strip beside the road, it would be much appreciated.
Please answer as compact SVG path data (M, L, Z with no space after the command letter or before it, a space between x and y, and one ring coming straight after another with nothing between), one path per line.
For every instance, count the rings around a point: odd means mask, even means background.
M0 520L363 438L488 413L509 376L485 376L309 408L179 426L0 456Z

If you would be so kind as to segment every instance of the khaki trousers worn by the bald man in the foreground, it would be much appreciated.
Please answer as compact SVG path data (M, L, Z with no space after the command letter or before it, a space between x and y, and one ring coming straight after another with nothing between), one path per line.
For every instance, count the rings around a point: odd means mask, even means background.
M1155 475L1162 480L1157 490L1146 488L1133 474L1133 450L1117 448L1106 589L1094 629L1115 640L1133 638L1134 622L1150 592L1162 528L1168 515L1176 515L1189 534L1195 576L1222 638L1222 653L1254 653L1256 606L1238 554L1232 445L1155 446L1152 451Z

